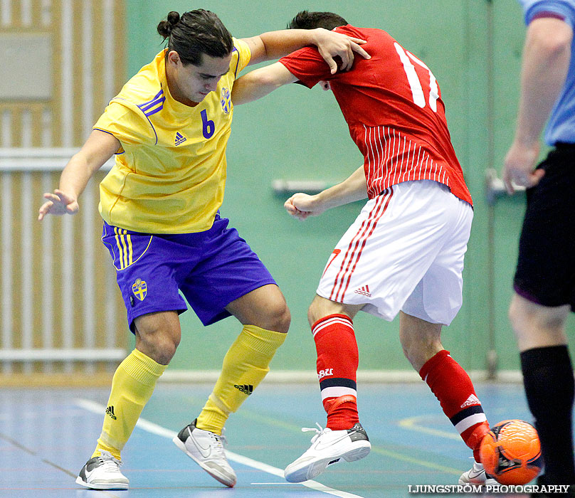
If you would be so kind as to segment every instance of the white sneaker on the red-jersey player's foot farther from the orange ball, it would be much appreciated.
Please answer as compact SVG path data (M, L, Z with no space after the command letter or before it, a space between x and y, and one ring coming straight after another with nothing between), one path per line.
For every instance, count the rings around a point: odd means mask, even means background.
M285 467L285 480L288 482L302 482L320 475L329 465L339 462L342 458L347 462L354 462L367 456L371 450L369 438L359 422L351 429L320 430L315 428L302 428L302 431L315 430L312 446L295 462Z

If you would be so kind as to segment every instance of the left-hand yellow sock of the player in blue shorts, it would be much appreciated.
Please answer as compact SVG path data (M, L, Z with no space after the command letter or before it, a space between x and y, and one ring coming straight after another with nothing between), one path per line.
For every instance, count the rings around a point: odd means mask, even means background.
M120 451L130 438L166 366L156 363L137 349L122 361L112 379L104 425L93 457L100 456L100 450L106 450L120 460Z

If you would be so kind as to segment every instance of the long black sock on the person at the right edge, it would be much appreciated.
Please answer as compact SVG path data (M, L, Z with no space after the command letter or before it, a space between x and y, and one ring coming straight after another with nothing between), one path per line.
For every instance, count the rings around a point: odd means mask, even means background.
M545 480L575 484L574 378L569 350L567 346L528 349L520 359L527 404L541 440Z

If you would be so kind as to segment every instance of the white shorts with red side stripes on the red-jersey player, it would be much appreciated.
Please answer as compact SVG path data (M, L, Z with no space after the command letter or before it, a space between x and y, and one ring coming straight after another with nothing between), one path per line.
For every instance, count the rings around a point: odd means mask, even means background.
M367 201L330 256L317 294L448 325L462 304L473 208L436 181L406 181Z

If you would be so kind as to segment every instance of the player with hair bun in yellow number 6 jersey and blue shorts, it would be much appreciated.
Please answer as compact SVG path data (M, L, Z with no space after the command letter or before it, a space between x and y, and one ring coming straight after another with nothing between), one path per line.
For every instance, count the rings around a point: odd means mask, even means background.
M174 443L219 482L236 484L222 446L228 416L268 372L290 312L258 256L219 208L226 183L231 90L243 68L315 45L332 67L351 66L359 39L325 29L236 39L213 12L172 11L157 27L167 48L112 99L38 219L78 212L91 176L115 155L100 184L103 243L117 270L136 347L118 366L102 433L76 482L128 489L120 452L181 337L186 297L204 325L233 315L242 325L204 409ZM239 388L238 388L239 387ZM209 451L200 452L201 446Z

